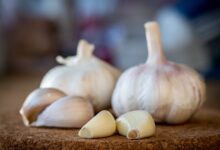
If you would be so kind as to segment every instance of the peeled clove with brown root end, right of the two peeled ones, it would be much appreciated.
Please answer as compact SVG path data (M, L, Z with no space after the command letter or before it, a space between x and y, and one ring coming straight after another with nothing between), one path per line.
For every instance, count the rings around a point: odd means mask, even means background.
M140 139L154 135L155 123L151 115L143 110L127 112L116 120L119 134L128 139Z

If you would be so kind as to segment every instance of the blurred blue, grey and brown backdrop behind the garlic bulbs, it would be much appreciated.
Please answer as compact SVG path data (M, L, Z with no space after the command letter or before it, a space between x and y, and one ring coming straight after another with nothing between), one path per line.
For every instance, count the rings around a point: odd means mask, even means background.
M219 0L0 0L0 110L19 109L57 55L79 39L123 70L143 63L143 24L158 21L166 56L201 73L205 107L220 108Z

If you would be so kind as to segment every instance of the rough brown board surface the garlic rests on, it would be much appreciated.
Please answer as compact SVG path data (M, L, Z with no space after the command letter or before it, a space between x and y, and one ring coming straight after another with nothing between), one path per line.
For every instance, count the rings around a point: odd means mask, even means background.
M200 110L183 125L160 124L153 137L82 139L77 129L28 128L18 111L0 114L0 149L220 149L220 112Z

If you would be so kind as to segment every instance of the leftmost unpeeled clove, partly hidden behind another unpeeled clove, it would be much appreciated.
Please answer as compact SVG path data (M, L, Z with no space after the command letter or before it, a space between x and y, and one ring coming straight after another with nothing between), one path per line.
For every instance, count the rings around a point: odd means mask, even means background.
M66 96L65 93L54 88L34 90L28 95L20 109L24 124L29 126L48 105L64 96Z

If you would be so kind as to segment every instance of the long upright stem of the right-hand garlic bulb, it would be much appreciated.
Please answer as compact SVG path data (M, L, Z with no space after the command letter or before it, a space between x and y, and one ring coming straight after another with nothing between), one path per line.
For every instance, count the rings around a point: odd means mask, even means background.
M156 22L144 24L148 47L148 64L164 64L166 58L160 41L160 29Z

